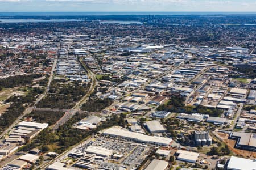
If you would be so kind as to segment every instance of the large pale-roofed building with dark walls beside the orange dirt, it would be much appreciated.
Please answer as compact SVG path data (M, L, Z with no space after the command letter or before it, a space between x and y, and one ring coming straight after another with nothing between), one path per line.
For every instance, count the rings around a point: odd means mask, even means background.
M255 133L242 133L232 132L229 138L237 141L236 148L242 150L256 151L256 134Z

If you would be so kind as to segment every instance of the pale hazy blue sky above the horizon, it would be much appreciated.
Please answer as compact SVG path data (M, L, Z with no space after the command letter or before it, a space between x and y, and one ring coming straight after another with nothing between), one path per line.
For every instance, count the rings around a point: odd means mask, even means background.
M0 12L20 11L256 12L256 0L0 0Z

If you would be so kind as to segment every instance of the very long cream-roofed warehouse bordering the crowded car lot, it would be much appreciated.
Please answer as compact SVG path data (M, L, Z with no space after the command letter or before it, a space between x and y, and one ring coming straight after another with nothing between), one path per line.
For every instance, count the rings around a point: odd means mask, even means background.
M110 135L112 137L121 137L123 139L129 139L131 141L139 142L139 143L150 143L152 145L160 145L160 146L169 146L172 142L170 138L164 137L155 137L155 136L148 136L141 133L130 132L121 129L121 127L116 128L112 127L106 129L103 133L104 135Z

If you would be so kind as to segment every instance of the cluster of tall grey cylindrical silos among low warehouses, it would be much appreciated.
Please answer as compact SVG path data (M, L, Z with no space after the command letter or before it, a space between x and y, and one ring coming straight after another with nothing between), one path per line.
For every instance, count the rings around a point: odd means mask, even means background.
M209 131L195 131L194 140L196 146L212 145L212 139L210 138Z

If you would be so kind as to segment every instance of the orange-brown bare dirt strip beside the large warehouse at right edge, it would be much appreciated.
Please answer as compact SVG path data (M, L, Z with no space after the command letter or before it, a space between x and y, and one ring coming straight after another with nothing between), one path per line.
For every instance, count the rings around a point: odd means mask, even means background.
M236 141L228 139L228 134L218 133L218 135L220 135L220 137L222 137L223 141L226 143L226 145L228 145L228 147L230 148L230 150L232 150L232 152L234 154L243 156L245 158L250 158L250 159L256 158L256 152L239 150L237 148L234 148L234 146L236 145Z

